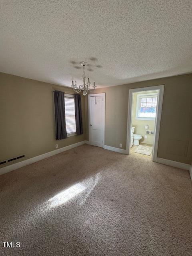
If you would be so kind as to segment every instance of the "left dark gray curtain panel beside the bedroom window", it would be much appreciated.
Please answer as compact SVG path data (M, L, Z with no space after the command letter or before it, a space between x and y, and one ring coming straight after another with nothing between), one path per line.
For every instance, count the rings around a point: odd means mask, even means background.
M66 139L64 92L54 91L56 140Z

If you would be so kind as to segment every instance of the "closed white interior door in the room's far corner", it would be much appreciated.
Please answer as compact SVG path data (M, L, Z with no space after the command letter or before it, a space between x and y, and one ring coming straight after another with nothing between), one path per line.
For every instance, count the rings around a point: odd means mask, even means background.
M105 97L102 94L89 95L89 142L90 145L98 147L104 145L104 99Z

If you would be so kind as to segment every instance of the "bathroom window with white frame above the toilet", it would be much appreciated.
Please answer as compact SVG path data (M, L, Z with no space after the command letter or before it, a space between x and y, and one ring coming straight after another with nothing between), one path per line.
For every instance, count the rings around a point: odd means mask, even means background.
M137 95L137 120L155 120L157 110L157 96L157 92Z

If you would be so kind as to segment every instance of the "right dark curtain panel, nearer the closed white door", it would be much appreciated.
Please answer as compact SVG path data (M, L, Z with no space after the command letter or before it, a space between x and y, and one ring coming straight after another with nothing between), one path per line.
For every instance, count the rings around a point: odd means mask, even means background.
M74 94L75 98L75 120L77 135L83 134L82 113L81 113L81 96Z

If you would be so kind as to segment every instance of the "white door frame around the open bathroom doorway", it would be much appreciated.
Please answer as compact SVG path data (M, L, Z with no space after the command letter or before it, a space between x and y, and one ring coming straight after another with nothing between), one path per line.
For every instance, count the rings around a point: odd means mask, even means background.
M132 126L133 93L134 92L151 91L151 90L158 90L157 115L156 115L156 118L155 118L154 144L153 144L153 151L152 151L152 161L156 162L157 150L158 150L158 142L159 142L159 131L160 131L161 113L162 113L162 104L163 104L164 85L149 86L149 87L135 88L135 89L130 89L129 90L126 152L127 152L128 155L130 155L130 139L131 139L131 126Z

